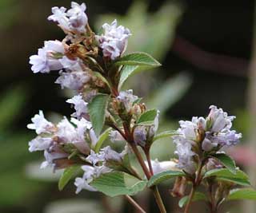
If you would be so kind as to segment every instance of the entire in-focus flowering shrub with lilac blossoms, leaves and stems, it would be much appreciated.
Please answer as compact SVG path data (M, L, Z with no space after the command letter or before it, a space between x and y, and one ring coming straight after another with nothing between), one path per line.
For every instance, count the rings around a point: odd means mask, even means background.
M71 2L70 10L53 7L48 20L57 22L66 37L62 41L45 41L38 54L30 57L34 73L60 70L55 83L76 93L66 101L75 110L70 120L64 116L53 124L39 111L31 119L32 124L27 125L38 134L29 142L29 151L44 152L46 160L41 168L65 168L59 189L78 176L74 181L76 193L89 190L125 195L141 212L145 211L130 195L149 187L159 211L166 212L158 184L171 178L175 178L171 195L181 198L179 206L185 206L185 213L195 200L206 201L210 212L217 212L226 200L255 199L256 192L251 188L234 189L236 185L250 187L246 174L225 153L242 137L231 130L234 116L210 106L208 116L181 120L177 131L157 134L160 112L146 108L132 89L122 91L122 85L134 73L160 64L147 53L123 56L130 30L114 20L95 34L85 11L84 3ZM113 143L126 141L122 152L104 146L108 137ZM178 160L150 159L151 145L163 137L173 138ZM132 164L132 156L143 174ZM127 184L127 178L134 183ZM200 190L204 187L202 192L198 191L199 186ZM186 195L189 187L190 194Z

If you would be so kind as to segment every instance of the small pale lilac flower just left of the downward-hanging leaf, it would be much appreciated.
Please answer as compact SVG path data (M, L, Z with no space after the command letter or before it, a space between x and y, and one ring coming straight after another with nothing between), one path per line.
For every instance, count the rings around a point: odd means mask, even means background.
M74 105L74 109L76 112L74 112L71 116L81 118L88 112L88 103L86 103L86 101L82 99L81 94L78 94L77 96L68 99L66 102Z

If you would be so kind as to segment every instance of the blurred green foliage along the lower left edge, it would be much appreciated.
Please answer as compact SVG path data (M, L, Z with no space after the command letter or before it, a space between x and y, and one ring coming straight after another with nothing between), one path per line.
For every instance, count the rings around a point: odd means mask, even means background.
M23 167L34 159L27 148L27 141L32 137L24 131L14 130L26 103L26 89L18 86L2 94L0 101L0 161L6 162L0 167L0 206L22 203L23 199L42 189L42 185L26 179ZM28 190L30 189L30 190Z

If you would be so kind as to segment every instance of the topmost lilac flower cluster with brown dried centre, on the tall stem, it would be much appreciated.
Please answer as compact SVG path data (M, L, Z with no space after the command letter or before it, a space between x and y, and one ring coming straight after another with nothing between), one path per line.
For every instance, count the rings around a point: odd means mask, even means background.
M45 41L44 46L38 49L38 54L30 57L30 64L34 73L50 73L51 70L60 70L55 83L63 88L90 93L95 89L104 89L105 83L94 75L94 67L98 54L102 53L105 61L114 60L122 56L126 49L130 30L118 26L117 21L111 25L104 24L104 33L95 35L90 30L85 13L86 5L71 2L71 9L53 7L52 15L48 20L58 23L66 33L63 41Z

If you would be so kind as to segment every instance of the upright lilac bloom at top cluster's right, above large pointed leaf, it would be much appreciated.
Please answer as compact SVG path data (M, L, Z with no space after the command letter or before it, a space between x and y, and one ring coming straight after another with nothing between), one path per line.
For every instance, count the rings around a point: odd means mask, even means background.
M110 57L111 60L120 57L126 49L128 37L130 37L130 30L118 26L117 20L102 26L104 34L98 36L99 46L103 49L104 57Z

